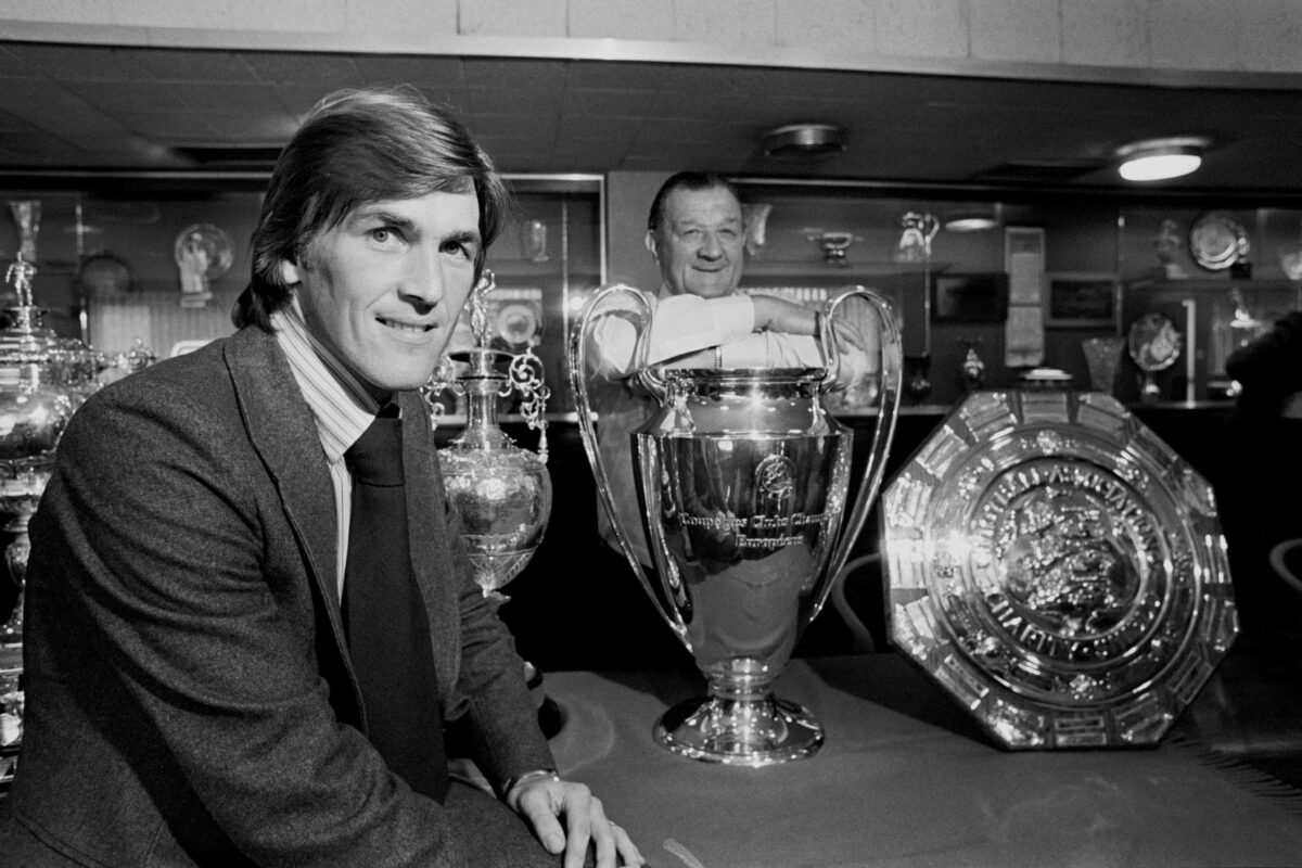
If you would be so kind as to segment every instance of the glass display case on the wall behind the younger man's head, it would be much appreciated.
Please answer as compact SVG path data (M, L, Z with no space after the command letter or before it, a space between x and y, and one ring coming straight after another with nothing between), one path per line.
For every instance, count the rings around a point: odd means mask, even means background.
M81 187L0 191L42 204L34 293L49 328L111 355L143 345L168 358L233 331L230 308L249 281L266 180L87 178ZM487 258L499 282L496 340L506 350L535 347L553 409L564 413L573 409L561 388L570 302L605 272L604 185L590 174L506 180L513 207ZM12 259L20 242L16 232L0 232L0 259Z

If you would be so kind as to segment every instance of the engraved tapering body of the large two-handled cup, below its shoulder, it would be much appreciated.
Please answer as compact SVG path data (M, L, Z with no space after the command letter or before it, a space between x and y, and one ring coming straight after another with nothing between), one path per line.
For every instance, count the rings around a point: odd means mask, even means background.
M838 433L767 439L641 435L654 544L677 571L693 653L704 668L785 661L807 592L836 540L848 483ZM659 466L659 472L654 467Z

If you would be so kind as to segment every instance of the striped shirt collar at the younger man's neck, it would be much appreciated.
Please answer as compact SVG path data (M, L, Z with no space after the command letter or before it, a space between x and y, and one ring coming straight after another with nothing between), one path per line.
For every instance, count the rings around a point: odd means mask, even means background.
M344 459L344 452L370 427L379 402L335 353L318 341L303 321L298 298L272 312L276 341L289 359L289 370L316 419L326 457Z

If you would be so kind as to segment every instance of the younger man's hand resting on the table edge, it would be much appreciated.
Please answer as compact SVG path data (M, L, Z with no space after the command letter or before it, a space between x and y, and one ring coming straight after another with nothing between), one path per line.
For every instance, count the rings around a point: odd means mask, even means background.
M517 785L505 802L529 820L548 852L565 852L564 868L582 868L589 842L596 868L644 864L628 833L607 819L600 799L582 783L534 778Z

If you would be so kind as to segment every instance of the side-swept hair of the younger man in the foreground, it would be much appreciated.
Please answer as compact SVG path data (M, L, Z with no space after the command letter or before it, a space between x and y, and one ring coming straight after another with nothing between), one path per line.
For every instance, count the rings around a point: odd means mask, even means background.
M236 301L236 327L271 331L271 314L290 297L283 260L299 262L307 243L355 208L430 193L479 199L484 252L501 232L506 187L492 160L447 109L414 88L361 88L331 94L281 151L253 230L253 276Z

